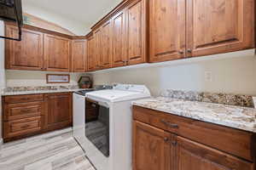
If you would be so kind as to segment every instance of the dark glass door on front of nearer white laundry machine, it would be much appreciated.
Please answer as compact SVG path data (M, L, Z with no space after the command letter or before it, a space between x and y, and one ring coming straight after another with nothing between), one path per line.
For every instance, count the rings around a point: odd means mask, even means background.
M109 107L107 103L86 99L85 136L103 156L109 156ZM86 150L85 150L86 151Z

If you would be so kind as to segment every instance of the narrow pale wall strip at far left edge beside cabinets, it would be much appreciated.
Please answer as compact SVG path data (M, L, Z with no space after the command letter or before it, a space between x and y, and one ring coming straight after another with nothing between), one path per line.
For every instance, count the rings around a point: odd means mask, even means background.
M3 21L0 21L0 35L3 35ZM0 39L0 88L5 87L5 74L4 74L4 40ZM2 105L0 96L0 145L2 142Z

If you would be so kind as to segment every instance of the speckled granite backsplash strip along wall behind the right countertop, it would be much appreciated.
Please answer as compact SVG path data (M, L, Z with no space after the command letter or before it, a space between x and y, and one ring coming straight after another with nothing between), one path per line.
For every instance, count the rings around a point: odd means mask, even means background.
M253 103L253 96L240 94L222 94L166 89L162 90L160 96L173 99L184 99L189 101L208 102L224 105L237 105L250 108L254 108L254 105L256 105L256 98L254 98Z

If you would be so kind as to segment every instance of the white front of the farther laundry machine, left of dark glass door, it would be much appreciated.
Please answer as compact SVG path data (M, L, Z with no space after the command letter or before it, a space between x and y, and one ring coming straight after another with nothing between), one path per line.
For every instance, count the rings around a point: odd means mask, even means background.
M85 139L85 97L73 93L73 137L84 144Z

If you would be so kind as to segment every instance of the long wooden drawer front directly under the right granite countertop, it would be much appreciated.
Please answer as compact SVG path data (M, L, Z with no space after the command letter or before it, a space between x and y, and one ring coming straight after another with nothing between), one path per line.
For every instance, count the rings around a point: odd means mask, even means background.
M253 133L138 106L133 107L133 118L248 161L253 161L255 157L255 153L251 152L256 144Z

